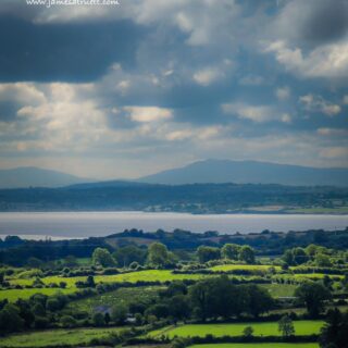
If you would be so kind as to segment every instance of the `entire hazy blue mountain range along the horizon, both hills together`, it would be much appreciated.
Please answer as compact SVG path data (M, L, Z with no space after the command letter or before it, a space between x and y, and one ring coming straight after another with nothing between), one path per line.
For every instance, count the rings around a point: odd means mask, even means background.
M97 182L38 167L0 170L0 188L138 186L141 183L185 184L279 184L290 186L348 187L348 169L310 167L258 161L204 160L163 171L136 181Z

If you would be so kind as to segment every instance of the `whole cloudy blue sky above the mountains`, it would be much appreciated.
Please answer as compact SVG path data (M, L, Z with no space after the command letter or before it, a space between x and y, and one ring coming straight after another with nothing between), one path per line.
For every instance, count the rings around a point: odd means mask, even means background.
M348 167L348 0L46 2L0 2L0 169Z

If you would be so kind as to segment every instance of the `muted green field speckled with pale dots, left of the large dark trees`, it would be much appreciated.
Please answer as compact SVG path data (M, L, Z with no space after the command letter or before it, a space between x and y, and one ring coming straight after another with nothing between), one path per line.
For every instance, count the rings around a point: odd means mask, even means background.
M111 308L121 303L128 306L134 301L149 304L158 298L159 289L161 289L159 286L120 288L114 291L74 301L67 306L67 310L80 310L94 313L98 308Z

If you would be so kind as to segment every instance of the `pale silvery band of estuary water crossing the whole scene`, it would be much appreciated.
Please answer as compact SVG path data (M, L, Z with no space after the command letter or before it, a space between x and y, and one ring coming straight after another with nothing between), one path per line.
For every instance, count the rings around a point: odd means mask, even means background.
M306 229L344 229L348 215L207 214L148 212L1 212L0 238L17 235L28 239L84 238L107 236L125 228L145 232L183 228L191 232L217 231L259 233Z

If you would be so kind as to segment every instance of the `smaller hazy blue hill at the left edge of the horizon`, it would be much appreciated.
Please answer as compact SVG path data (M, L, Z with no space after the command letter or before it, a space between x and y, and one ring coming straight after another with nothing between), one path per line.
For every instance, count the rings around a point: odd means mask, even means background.
M57 171L42 170L39 167L16 167L0 170L0 188L18 187L61 187L87 179Z

